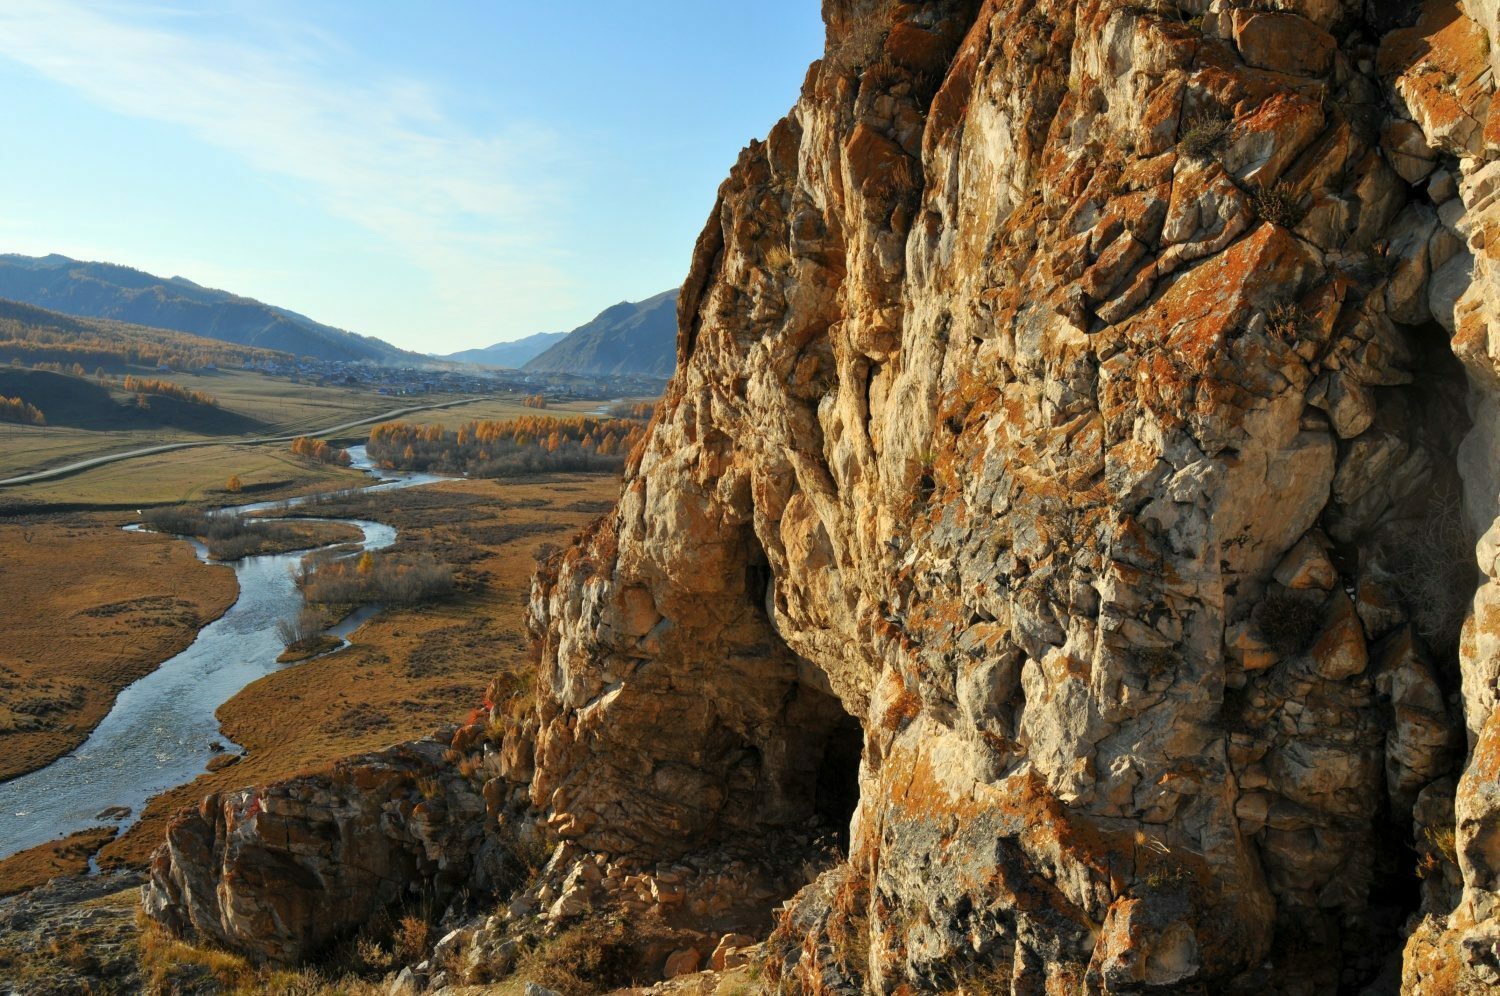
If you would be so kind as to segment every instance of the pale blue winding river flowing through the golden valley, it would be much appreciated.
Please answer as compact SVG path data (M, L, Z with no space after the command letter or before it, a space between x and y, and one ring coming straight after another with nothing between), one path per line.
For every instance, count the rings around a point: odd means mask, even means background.
M412 488L442 480L434 474L376 472L364 447L350 450L354 465L378 477L356 492ZM312 498L255 502L226 512L294 508ZM363 534L363 549L396 542L396 530L380 522L344 519ZM198 558L207 550L194 542ZM219 730L214 710L249 682L296 664L279 664L276 622L303 608L291 568L306 550L246 556L234 562L240 596L222 616L202 627L183 652L128 686L88 740L52 764L0 784L0 858L90 826L132 824L146 801L204 772L210 744L232 747ZM330 633L344 639L376 609L362 608ZM123 807L129 816L110 819ZM118 810L123 812L123 810Z

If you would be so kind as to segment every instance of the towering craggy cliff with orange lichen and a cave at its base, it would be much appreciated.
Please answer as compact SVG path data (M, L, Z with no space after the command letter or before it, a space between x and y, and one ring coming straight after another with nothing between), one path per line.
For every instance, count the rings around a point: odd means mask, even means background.
M1500 984L1500 3L824 14L454 740L528 902L788 898L782 992ZM165 916L266 834L188 822Z

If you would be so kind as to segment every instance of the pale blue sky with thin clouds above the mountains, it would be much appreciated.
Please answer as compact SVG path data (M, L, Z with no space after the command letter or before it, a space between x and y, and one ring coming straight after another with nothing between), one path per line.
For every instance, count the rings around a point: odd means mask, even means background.
M675 286L818 0L3 0L0 252L428 352Z

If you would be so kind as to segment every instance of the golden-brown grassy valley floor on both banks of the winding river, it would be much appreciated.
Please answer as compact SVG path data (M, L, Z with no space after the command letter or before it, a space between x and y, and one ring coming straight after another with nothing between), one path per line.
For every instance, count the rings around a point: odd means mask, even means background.
M532 411L507 408L507 402L482 402L464 414L508 417ZM243 482L238 494L222 486L230 472ZM0 777L34 770L75 747L124 684L183 650L198 628L234 602L230 567L200 562L178 538L122 531L136 518L136 507L182 500L237 504L366 480L354 471L296 459L279 446L226 446L0 490L0 504L12 502L8 520L0 522L0 604L10 606L10 639L0 651ZM566 544L612 507L618 489L614 474L450 480L330 496L298 508L298 516L366 518L394 525L399 537L392 554L432 555L450 564L456 592L423 606L387 608L356 632L344 651L288 664L248 686L219 710L225 735L244 748L242 759L156 796L118 838L104 826L0 861L0 896L45 896L46 890L34 886L48 880L81 886L93 879L54 876L80 876L92 860L105 870L141 868L171 814L210 792L320 770L339 758L464 720L496 674L516 680L528 674L525 615L537 552L544 544ZM18 492L24 498L20 504ZM18 507L46 512L16 514ZM332 522L315 525L309 536L333 542L340 528ZM0 980L22 964L33 980L46 976L48 964L62 974L57 978L69 972L88 976L88 964L72 966L70 960L93 958L99 945L129 951L132 964L135 957L172 963L198 957L159 938L159 944L146 944L150 930L141 934L134 924L134 896L128 890L90 900L112 903L111 915L118 914L106 942L80 934L80 945L38 942L22 957L8 952L10 939L4 939ZM58 902L64 920L81 915L76 903ZM146 957L147 951L156 954ZM12 957L21 960L8 963ZM228 972L226 964L214 964L214 970ZM252 981L260 980L256 969L240 968L244 975L237 984L248 986L248 992L268 992L254 988L260 984ZM142 975L159 970L147 966Z

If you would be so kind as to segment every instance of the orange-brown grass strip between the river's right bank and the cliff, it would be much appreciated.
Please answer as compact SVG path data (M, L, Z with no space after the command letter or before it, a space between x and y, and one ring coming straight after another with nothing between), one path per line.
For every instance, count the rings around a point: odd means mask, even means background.
M104 848L99 864L142 864L166 819L210 792L318 770L464 720L498 672L524 670L536 552L567 543L614 504L618 489L612 474L453 480L298 510L394 525L393 552L453 564L459 591L426 606L386 609L356 632L350 648L242 690L219 718L248 756L156 796L129 832Z

